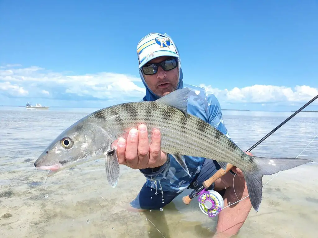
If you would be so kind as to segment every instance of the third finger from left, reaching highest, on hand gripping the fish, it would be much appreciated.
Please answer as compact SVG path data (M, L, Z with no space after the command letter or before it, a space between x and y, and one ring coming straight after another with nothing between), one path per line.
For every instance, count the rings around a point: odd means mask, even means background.
M149 140L145 125L138 126L138 156L139 164L146 165L149 162Z

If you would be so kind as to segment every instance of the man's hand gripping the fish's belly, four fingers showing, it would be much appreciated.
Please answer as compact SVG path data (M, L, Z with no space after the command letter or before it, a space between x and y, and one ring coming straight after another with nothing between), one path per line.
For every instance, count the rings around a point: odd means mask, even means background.
M116 153L119 164L127 165L132 169L155 168L167 161L167 154L161 151L161 133L154 130L149 146L147 127L143 124L137 129L131 129L127 141L120 138L117 141Z

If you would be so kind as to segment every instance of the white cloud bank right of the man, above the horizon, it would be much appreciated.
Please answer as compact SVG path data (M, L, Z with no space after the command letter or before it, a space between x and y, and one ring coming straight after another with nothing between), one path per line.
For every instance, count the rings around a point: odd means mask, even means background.
M211 85L206 86L200 84L205 88L207 94L214 94L220 102L249 102L249 103L274 103L274 102L288 102L292 104L295 102L307 102L318 95L318 88L302 85L294 88L285 86L273 85L252 85L244 88L233 89L217 89L212 88Z

